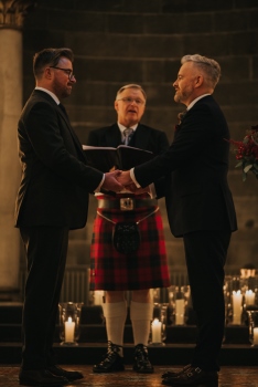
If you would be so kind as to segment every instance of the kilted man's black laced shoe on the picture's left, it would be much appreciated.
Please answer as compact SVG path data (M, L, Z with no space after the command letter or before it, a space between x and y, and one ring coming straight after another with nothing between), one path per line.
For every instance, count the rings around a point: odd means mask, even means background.
M119 355L120 349L120 345L108 342L107 354L104 356L103 362L93 366L93 372L96 374L105 374L125 370L123 357Z

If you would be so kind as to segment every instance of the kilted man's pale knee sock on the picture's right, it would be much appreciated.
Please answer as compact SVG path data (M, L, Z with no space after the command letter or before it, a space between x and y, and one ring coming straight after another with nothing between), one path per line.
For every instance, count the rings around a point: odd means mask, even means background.
M153 304L135 302L130 304L130 317L132 324L135 345L148 345L150 337L150 322L153 314Z

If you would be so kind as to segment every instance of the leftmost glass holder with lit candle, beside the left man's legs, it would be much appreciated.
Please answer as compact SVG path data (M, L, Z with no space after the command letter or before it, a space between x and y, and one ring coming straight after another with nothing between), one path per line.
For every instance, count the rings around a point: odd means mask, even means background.
M65 302L58 305L61 345L77 345L79 338L82 306L82 302Z

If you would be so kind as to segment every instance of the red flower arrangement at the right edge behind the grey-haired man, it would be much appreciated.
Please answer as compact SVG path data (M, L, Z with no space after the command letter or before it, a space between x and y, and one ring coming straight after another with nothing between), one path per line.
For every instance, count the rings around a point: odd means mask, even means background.
M229 143L235 146L234 153L238 160L236 168L241 167L243 181L246 180L249 170L258 179L258 125L251 126L241 142L230 139Z

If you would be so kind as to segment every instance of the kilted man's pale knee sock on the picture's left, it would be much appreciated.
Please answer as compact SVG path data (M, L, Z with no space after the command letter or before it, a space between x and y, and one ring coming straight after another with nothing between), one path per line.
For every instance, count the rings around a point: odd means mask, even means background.
M108 341L122 346L123 330L127 318L127 302L105 303L103 306ZM122 355L122 348L119 354Z

